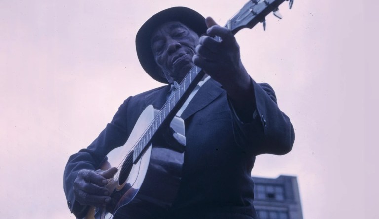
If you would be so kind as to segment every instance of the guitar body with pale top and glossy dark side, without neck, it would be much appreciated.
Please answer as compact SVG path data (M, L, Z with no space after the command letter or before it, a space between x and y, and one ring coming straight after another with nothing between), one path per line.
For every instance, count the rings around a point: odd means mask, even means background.
M133 163L134 146L152 123L157 111L152 105L148 106L141 113L125 145L107 154L100 169L118 167L118 172L106 186L111 192L111 202L104 208L91 207L84 219L146 219L171 206L181 179L184 146L162 147L149 143L138 161ZM170 127L176 135L184 137L184 121L181 118L175 117Z

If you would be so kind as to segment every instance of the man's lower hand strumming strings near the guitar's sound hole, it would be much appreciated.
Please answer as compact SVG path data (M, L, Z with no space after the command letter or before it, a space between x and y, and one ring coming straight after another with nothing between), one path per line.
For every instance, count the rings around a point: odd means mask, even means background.
M74 181L74 195L80 205L104 207L110 202L110 191L104 186L114 176L117 168L103 170L80 170Z

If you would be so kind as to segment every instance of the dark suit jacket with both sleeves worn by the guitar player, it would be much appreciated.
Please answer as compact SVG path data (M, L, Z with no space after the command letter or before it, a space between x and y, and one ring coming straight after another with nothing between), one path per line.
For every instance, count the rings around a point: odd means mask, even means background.
M209 218L205 215L216 213L215 217L222 218L219 214L223 212L225 218L230 214L235 219L256 216L251 179L255 156L289 152L294 130L289 118L279 110L273 89L254 81L253 86L256 110L247 123L238 119L226 91L213 79L200 88L183 112L187 145L182 180L167 218ZM160 87L126 99L99 137L70 157L64 190L74 214L80 214L74 209L73 182L77 172L98 169L109 151L126 142L146 106L162 107L168 90L168 86Z

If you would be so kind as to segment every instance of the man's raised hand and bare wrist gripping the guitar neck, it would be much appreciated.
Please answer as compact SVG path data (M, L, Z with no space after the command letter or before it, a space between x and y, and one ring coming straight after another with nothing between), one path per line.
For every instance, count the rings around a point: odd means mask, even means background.
M211 18L205 19L207 35L199 38L192 61L227 91L238 117L249 122L255 110L253 82L241 62L239 45L233 33ZM221 37L221 41L214 39Z

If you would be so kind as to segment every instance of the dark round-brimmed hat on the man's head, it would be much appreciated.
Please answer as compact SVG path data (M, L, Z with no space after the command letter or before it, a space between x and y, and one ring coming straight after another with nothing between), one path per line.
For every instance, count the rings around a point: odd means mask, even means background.
M179 21L192 29L199 36L207 30L205 18L187 7L171 7L160 11L147 20L136 35L137 56L142 68L156 81L168 83L162 70L156 64L150 48L152 32L169 21Z

